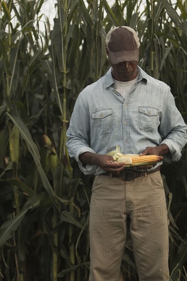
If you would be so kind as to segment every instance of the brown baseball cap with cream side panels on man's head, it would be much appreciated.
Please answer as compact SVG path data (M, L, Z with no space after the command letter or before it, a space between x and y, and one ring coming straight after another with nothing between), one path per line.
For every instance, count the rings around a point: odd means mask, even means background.
M138 61L139 38L130 27L115 27L106 36L108 57L113 64L122 61Z

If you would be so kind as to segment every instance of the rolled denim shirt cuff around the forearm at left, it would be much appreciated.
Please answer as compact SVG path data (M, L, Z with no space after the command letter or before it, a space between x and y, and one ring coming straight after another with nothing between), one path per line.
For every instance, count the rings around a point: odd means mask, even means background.
M84 152L96 153L94 150L92 150L89 147L82 147L77 151L75 159L78 162L79 168L84 175L94 175L96 173L96 169L98 168L98 166L83 164L79 159L79 155L81 155Z

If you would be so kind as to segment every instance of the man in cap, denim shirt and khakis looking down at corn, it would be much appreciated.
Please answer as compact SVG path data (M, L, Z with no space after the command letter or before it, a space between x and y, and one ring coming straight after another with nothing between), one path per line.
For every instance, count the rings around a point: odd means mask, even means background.
M170 87L137 66L139 46L133 29L109 31L111 68L80 93L67 130L69 155L84 174L97 175L90 204L90 281L119 280L127 217L139 280L169 280L159 163L146 171L128 169L106 155L118 145L123 154L176 161L186 144L186 125Z

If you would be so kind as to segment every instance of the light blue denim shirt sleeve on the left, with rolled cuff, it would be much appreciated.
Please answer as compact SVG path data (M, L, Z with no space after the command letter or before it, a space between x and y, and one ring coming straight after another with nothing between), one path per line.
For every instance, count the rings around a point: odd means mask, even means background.
M80 170L85 174L95 174L96 165L84 165L79 155L84 152L96 153L90 146L90 116L81 93L75 103L74 111L67 130L67 150L69 156L76 159Z

